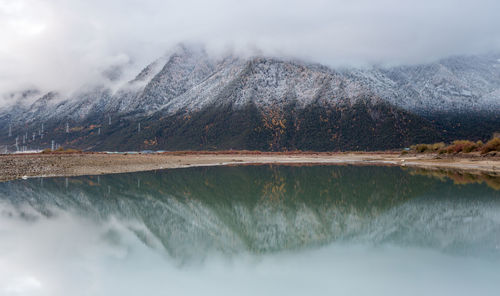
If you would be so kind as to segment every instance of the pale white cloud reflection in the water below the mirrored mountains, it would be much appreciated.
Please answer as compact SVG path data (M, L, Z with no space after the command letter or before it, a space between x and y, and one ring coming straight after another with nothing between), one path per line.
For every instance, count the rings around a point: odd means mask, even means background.
M179 266L128 223L0 207L0 295L498 295L498 262L402 247L334 244ZM25 217L30 217L29 210Z

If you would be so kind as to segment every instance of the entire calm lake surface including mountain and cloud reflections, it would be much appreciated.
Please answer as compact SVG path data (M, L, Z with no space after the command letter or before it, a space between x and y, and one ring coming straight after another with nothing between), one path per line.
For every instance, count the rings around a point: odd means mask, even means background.
M352 166L0 183L0 295L500 295L499 189Z

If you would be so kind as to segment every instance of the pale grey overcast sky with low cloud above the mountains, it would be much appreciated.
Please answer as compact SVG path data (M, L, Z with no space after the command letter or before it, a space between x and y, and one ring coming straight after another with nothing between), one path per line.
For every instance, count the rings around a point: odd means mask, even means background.
M71 90L179 42L331 66L499 51L500 1L0 0L0 28L0 93Z

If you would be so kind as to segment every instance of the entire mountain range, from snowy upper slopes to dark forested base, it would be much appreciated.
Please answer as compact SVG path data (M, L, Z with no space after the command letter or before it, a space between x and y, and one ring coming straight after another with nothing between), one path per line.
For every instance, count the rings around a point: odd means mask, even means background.
M51 92L0 111L6 127L0 143L12 150L16 136L40 135L41 123L43 139L23 139L31 147L55 140L94 150L324 151L484 140L500 130L499 61L486 55L331 69L268 57L212 57L179 46L117 91Z

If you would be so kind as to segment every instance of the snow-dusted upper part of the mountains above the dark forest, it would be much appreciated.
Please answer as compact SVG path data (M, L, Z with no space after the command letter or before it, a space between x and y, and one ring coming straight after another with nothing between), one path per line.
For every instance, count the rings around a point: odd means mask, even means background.
M500 111L500 55L393 68L332 69L262 56L214 57L203 48L180 45L116 91L100 85L70 97L50 92L32 104L4 108L0 123L24 129L41 122L99 125L110 116L141 121L220 108L246 112L249 106L284 118L285 113L315 106L338 111L359 103L390 106L427 119L441 114L494 114ZM382 112L369 109L372 120Z

